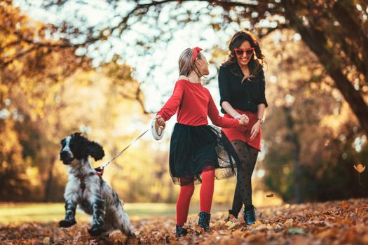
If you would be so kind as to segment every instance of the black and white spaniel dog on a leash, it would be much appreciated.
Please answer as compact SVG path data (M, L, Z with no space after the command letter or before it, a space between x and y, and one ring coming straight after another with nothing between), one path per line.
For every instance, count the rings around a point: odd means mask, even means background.
M77 204L93 216L90 235L99 236L111 230L121 230L128 237L134 236L130 229L128 214L118 195L93 169L89 156L95 160L104 157L104 150L95 141L89 141L81 133L62 139L60 160L68 166L68 183L65 188L65 219L59 226L68 228L76 224Z

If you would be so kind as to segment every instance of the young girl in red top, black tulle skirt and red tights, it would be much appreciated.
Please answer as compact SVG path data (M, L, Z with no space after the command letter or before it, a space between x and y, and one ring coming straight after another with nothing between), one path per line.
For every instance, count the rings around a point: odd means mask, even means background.
M194 183L200 188L200 213L198 225L206 232L210 228L210 211L214 191L214 178L234 176L236 152L225 134L217 127L207 125L207 116L219 127L240 127L243 119L222 118L210 92L200 84L208 75L208 63L201 48L187 48L179 57L179 80L172 96L158 111L156 121L164 126L177 113L177 123L170 142L170 174L180 185L177 199L176 236L187 234L183 228L188 218L189 204Z

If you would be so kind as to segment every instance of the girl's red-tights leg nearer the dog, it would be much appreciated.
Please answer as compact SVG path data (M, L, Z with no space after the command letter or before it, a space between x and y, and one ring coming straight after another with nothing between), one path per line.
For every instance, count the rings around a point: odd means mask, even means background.
M186 223L189 212L191 196L194 192L194 182L187 186L180 186L179 197L177 197L177 225L183 226Z

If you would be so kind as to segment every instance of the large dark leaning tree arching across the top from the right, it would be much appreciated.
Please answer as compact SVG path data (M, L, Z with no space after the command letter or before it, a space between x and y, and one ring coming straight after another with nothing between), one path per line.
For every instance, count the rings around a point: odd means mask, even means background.
M42 7L55 10L67 3L68 0L44 1ZM85 1L76 3L88 4ZM364 101L368 92L367 1L121 0L106 1L106 4L114 13L111 20L85 31L81 31L80 26L75 24L77 22L64 22L60 30L70 40L76 36L83 38L83 42L75 45L101 45L109 43L111 38L124 40L127 38L125 32L139 32L135 29L135 23L145 23L148 29L154 27L156 30L136 43L137 53L146 55L155 43L170 41L173 31L203 18L210 18L211 27L215 30L226 29L231 23L247 23L259 37L276 29L293 29L318 57L326 75L334 80L334 86L343 94L360 126L368 134L368 106ZM82 23L86 24L83 20Z

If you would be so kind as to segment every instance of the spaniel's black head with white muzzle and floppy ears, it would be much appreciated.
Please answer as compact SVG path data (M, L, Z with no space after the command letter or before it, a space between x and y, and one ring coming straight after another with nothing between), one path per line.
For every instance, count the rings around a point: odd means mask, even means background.
M69 165L73 160L82 160L90 155L96 161L104 157L104 149L95 141L89 141L81 136L81 133L74 133L62 139L60 142L60 160L64 165Z

